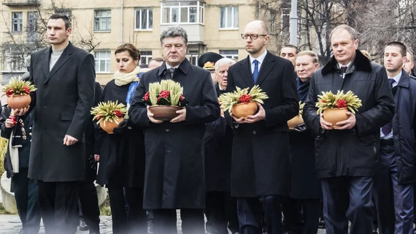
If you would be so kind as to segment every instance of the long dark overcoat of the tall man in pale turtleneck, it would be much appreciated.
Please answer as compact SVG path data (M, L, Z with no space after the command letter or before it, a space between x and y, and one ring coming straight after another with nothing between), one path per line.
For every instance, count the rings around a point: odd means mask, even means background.
M49 72L51 47L31 56L34 111L28 177L45 182L81 181L85 176L85 127L94 103L94 57L69 43ZM64 136L78 139L69 147Z

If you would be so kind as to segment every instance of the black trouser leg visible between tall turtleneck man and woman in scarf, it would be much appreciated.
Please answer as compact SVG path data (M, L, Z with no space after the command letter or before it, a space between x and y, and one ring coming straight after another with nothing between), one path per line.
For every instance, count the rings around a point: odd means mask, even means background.
M97 190L93 182L83 181L80 183L79 200L83 219L89 231L100 232L100 208L98 207Z

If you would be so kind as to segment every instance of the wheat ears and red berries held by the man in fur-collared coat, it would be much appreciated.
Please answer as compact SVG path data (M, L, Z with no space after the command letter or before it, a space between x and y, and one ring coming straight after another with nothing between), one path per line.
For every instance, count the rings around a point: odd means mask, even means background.
M350 112L355 112L362 106L361 99L359 99L352 91L348 91L344 94L341 90L333 94L331 91L322 92L322 95L318 95L318 101L315 103L318 108L317 113L320 114L326 109L334 108L348 108Z

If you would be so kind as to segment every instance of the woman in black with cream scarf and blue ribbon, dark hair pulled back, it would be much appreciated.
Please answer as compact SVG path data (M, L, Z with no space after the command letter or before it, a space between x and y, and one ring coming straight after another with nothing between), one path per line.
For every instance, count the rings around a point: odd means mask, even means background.
M114 54L118 71L105 86L101 101L118 101L129 108L142 74L137 67L139 51L132 44L122 44ZM114 128L114 134L100 128L98 134L97 183L108 188L113 233L147 233L146 210L143 210L143 131L125 119Z

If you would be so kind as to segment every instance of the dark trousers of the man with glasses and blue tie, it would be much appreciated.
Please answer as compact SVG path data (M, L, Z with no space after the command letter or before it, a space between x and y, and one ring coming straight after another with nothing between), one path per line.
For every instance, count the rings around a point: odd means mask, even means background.
M281 225L281 197L266 196L264 203L264 222L268 234L283 233ZM257 197L239 197L237 214L239 216L241 234L261 234L262 202Z

